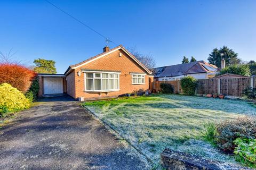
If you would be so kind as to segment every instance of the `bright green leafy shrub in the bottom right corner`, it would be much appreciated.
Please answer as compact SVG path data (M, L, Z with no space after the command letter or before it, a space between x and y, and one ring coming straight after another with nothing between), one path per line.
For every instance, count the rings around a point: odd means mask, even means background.
M256 139L237 138L234 143L236 160L246 166L256 168Z

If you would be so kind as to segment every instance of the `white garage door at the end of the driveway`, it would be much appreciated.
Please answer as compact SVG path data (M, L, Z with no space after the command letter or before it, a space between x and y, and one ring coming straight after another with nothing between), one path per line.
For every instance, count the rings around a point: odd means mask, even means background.
M62 94L62 78L44 78L44 94Z

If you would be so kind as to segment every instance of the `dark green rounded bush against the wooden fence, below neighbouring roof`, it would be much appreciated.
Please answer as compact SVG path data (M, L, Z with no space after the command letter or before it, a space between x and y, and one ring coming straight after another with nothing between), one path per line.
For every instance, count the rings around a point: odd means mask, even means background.
M181 79L181 88L183 90L183 93L185 95L190 95L190 96L195 95L196 82L197 82L196 79L191 76L182 78Z

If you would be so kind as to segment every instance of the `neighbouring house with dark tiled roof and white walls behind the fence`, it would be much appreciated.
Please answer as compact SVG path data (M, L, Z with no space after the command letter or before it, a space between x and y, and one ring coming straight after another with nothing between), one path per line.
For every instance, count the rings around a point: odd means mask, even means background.
M205 61L183 63L153 69L154 80L180 80L183 77L191 76L196 79L210 79L218 73L218 67Z

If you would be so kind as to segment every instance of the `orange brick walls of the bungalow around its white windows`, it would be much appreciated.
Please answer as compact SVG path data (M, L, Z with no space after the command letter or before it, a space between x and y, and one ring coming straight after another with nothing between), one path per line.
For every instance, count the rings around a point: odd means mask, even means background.
M122 53L122 56L119 57L119 52ZM85 92L84 91L84 73L81 74L80 77L76 74L81 69L89 69L89 70L110 70L110 71L121 71L119 76L119 91L113 92ZM149 77L145 75L145 84L132 84L132 75L130 72L136 73L146 73L137 63L135 63L128 55L126 55L123 50L119 49L116 52L113 52L107 56L99 58L98 60L92 61L86 65L78 67L72 73L72 75L68 75L67 77L67 92L70 96L77 97L85 97L85 98L98 98L98 97L110 97L110 96L118 96L126 93L131 93L133 90L143 90L146 91L149 89ZM69 78L70 77L70 78ZM75 77L75 92L73 91L73 86L71 82ZM71 87L72 86L72 87Z

